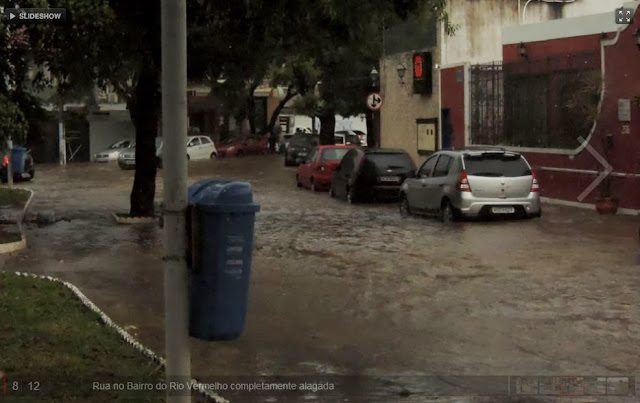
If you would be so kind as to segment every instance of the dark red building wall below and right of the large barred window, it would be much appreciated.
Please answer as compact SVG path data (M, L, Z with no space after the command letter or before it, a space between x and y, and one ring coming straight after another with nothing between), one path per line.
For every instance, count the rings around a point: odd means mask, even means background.
M636 14L640 14L640 11ZM621 207L640 209L640 178L621 177L621 174L640 174L640 104L634 99L640 96L640 48L636 45L636 38L633 36L640 26L640 15L636 15L634 21L621 32L616 44L604 48L604 99L589 144L604 155L606 136L607 134L613 136L613 148L609 150L608 156L608 162L614 170L611 179L612 195L620 200ZM605 36L615 37L614 34ZM563 53L599 51L602 39L602 35L590 35L532 42L525 46L530 58L540 58ZM505 62L521 59L519 46L519 44L513 44L503 47ZM618 121L619 99L631 99L631 122ZM625 125L628 125L628 130L623 130ZM578 141L576 146L579 146ZM596 179L596 176L587 173L545 170L543 167L602 170L602 166L586 149L574 156L544 153L544 151L525 153L525 155L540 177L541 194L551 198L578 201L578 196ZM599 195L600 190L596 188L583 201L594 202Z

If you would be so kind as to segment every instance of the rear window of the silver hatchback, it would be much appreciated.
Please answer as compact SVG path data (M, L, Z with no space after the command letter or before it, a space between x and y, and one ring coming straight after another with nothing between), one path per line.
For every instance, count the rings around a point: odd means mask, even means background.
M482 153L464 156L467 175L519 177L531 175L531 168L518 154Z

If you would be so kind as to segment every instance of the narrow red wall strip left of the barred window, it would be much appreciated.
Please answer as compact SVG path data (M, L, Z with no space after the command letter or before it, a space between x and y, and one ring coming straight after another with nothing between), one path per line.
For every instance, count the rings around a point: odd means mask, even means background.
M451 67L440 70L442 85L442 109L449 109L453 135L451 145L454 148L464 147L464 67ZM462 80L458 82L458 76Z

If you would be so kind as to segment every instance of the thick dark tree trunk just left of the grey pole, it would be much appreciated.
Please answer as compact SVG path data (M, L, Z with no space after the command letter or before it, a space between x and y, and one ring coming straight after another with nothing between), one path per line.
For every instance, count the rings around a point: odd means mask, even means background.
M136 129L136 173L131 190L131 217L153 216L156 193L156 136L160 121L160 70L143 67L131 102L131 120Z

